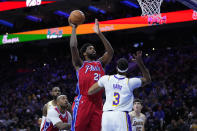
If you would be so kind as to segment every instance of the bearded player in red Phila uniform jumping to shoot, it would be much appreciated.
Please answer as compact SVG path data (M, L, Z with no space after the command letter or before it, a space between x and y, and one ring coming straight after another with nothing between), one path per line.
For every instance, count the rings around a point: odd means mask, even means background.
M70 22L69 22L70 23ZM73 105L72 131L100 131L102 117L102 92L88 96L88 89L104 75L104 69L114 54L113 48L99 29L98 20L95 19L95 33L99 36L105 47L105 53L96 60L96 51L93 45L87 43L80 49L77 48L76 29L77 25L71 24L72 35L70 38L70 49L72 63L77 72L78 84L76 93L78 97Z

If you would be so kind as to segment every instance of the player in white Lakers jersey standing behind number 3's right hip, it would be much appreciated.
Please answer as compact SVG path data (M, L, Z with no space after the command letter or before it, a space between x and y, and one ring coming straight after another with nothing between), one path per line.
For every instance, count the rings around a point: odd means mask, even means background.
M141 113L142 101L140 99L135 99L133 102L134 111L129 112L131 118L132 131L145 131L144 125L146 121L146 116Z

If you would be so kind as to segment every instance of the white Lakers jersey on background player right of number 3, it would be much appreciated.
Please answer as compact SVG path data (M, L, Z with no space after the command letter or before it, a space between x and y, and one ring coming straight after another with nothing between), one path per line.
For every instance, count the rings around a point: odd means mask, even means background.
M140 116L135 116L134 112L129 113L131 117L132 131L144 131L145 115L140 113Z

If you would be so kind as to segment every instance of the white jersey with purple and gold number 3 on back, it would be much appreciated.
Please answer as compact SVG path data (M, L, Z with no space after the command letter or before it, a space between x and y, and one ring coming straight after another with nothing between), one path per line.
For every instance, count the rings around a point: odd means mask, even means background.
M123 75L105 75L98 81L105 88L106 101L103 111L131 111L133 107L133 90L142 84L139 78L126 78Z

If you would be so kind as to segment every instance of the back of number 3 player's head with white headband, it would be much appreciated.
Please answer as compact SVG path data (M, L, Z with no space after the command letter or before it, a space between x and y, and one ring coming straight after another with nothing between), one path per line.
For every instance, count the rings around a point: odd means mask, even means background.
M118 61L117 61L117 69L119 69L118 70L118 72L126 72L127 71L127 69L128 69L128 61L127 61L127 59L125 59L125 58L120 58ZM122 73L121 72L121 73Z

